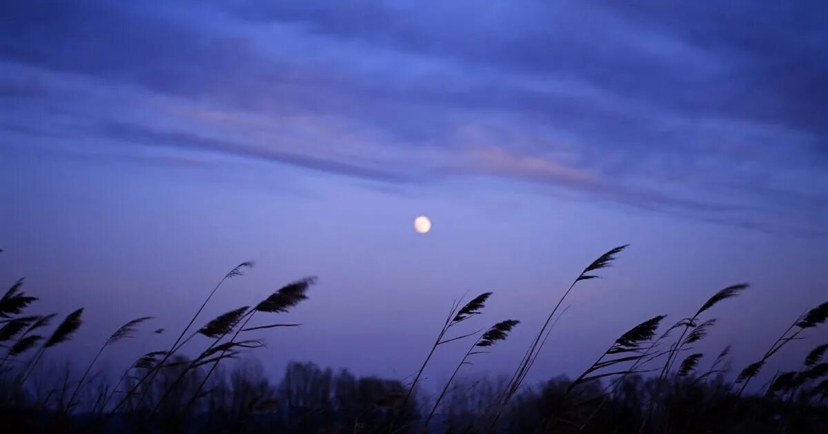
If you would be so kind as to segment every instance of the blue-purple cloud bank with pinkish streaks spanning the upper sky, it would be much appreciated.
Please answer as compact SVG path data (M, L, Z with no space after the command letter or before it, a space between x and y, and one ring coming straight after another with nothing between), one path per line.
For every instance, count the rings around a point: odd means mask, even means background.
M0 17L14 71L0 103L25 110L0 120L7 135L824 227L825 7L764 3L17 2Z

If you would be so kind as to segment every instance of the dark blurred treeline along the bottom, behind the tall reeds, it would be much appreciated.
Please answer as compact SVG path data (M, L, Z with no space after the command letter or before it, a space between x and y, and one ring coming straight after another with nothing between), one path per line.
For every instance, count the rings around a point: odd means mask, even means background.
M177 374L169 370L156 379L156 392L162 393ZM405 390L397 380L356 377L348 370L296 362L286 367L281 381L272 382L263 374L262 365L245 361L215 376L205 397L184 417L181 406L204 374L190 372L176 396L167 398L156 412L137 406L104 420L88 411L69 417L43 406L45 396L4 393L0 416L7 426L16 427L14 432L388 432ZM60 393L61 376L54 378L58 381L51 388ZM733 384L721 377L705 383L670 381L657 396L652 415L645 417L647 403L658 389L656 382L632 375L604 395L598 383L570 394L569 379L551 379L519 393L500 418L498 432L828 432L824 405L804 396L794 400L770 395L739 398L732 391ZM487 431L489 420L482 415L491 411L503 385L487 377L461 380L445 399L430 431ZM103 384L98 388L96 393L104 393ZM151 396L147 402L157 398ZM825 397L821 399L824 402ZM408 405L407 417L397 431L419 432L421 409L430 406L429 398L415 398ZM650 421L646 426L645 419Z

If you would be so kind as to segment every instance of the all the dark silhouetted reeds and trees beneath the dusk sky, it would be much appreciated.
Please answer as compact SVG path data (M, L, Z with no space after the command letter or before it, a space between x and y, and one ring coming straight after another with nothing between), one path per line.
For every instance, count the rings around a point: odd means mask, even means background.
M711 312L744 293L747 284L721 289L691 316L667 322L669 327L662 327L664 315L631 327L608 342L607 350L575 379L525 384L566 311L561 309L566 298L598 277L595 273L609 267L625 247L609 250L575 277L551 306L514 374L503 379L460 375L470 360L497 351L497 342L508 339L519 324L506 319L477 331L462 330L484 311L490 292L451 305L408 383L296 362L287 365L281 381L272 382L249 357L229 369L228 360L264 346L262 333L300 326L271 318L307 300L315 284L315 278L297 280L253 307L233 308L205 321L201 314L224 282L253 267L244 262L224 274L171 346L137 356L117 382L99 379L96 362L104 351L138 333L165 333L147 327L152 317L115 329L89 355L82 374L51 368L44 383L35 381L33 373L44 369L51 348L82 330L84 309L70 312L51 329L58 315L30 314L37 298L25 292L19 279L0 298L0 420L5 432L828 432L826 343L814 346L798 370L778 372L760 393L747 393L749 382L768 368L773 355L828 320L828 303L795 318L768 351L732 380L729 346L712 360L694 351L715 327ZM267 317L267 322L251 325L254 316ZM468 341L469 349L458 355L443 387L426 398L417 393L421 375L450 341ZM187 354L183 347L188 342L193 342L189 348L200 345L200 351Z

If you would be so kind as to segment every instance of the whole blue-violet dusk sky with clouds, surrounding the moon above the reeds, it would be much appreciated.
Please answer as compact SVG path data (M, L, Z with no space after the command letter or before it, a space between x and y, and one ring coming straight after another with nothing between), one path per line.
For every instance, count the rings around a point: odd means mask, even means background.
M303 325L256 354L274 376L405 377L453 300L493 291L469 331L522 321L471 370L496 375L629 243L531 379L749 282L702 346L740 370L828 300L826 20L818 1L6 2L0 279L85 307L60 350L85 363L132 317L181 330L243 260L200 322L317 275L277 318Z

